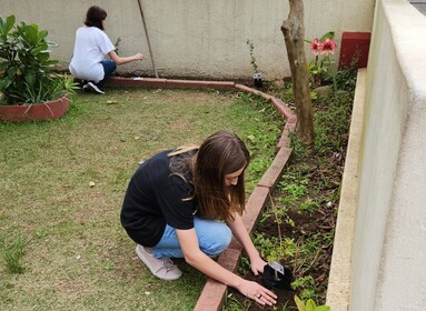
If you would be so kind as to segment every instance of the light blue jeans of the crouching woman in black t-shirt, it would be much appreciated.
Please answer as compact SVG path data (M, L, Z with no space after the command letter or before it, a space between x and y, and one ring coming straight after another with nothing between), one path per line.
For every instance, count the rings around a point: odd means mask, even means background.
M195 217L194 225L200 250L207 255L218 255L228 248L232 232L225 223ZM166 225L160 242L152 248L152 254L155 258L184 258L175 228Z

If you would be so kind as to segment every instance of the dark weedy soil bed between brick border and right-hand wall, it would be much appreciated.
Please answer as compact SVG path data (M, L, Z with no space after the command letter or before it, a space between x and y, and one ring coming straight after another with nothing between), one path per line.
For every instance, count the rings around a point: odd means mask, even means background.
M273 289L278 295L278 302L274 308L258 305L237 290L229 289L228 301L225 303L224 310L297 310L294 301L295 294L305 301L313 298L317 305L325 304L353 102L353 94L347 93L343 97L324 99L315 103L315 120L321 122L321 130L328 133L328 138L323 137L321 146L316 143L316 146L305 148L303 152L299 152L295 146L293 158L273 192L273 200L269 205L265 207L257 227L251 232L255 244L258 233L261 233L265 239L277 238L279 234L283 238L291 239L298 251L293 255L284 255L284 261L280 263L293 271L294 280L308 278L309 281L303 282L296 287L296 290ZM337 101L339 112L336 113L330 101ZM316 124L316 131L317 128L318 124ZM316 137L318 140L317 133ZM340 146L334 143L337 140L341 141ZM297 177L296 180L307 181L307 192L294 202L283 201L291 195L285 187L289 182L288 179L285 179L286 174ZM306 200L314 200L315 209L300 209L301 203ZM281 221L279 232L271 208L281 205L287 209L288 218L286 219L291 220L293 223ZM265 250L265 245L256 244L256 247L266 259L268 248ZM247 264L240 264L239 274L260 283L260 277L255 277Z

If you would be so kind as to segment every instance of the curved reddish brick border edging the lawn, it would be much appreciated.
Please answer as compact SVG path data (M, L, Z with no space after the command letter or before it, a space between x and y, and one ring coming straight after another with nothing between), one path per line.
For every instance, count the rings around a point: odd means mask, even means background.
M277 143L277 153L271 165L261 177L259 183L251 192L246 204L246 213L242 215L244 224L248 232L251 232L256 224L260 211L265 207L268 197L278 182L287 160L290 158L293 148L290 146L289 133L295 131L297 117L280 100L265 92L249 88L244 84L231 81L198 81L198 80L176 80L176 79L156 79L156 78L120 78L111 77L106 81L107 86L122 87L145 87L145 88L178 88L178 89L217 89L229 90L236 88L238 90L257 94L275 106L277 111L286 120L281 137ZM235 271L241 255L242 248L239 242L232 238L228 249L226 249L218 258L218 263L229 271ZM210 278L207 279L201 294L197 300L194 311L219 311L224 303L227 285Z

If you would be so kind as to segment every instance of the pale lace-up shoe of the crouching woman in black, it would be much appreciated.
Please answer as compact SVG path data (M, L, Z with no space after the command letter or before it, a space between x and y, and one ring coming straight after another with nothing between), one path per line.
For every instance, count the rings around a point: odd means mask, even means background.
M169 258L155 258L142 245L136 245L136 253L153 275L161 280L172 281L182 275L182 271Z

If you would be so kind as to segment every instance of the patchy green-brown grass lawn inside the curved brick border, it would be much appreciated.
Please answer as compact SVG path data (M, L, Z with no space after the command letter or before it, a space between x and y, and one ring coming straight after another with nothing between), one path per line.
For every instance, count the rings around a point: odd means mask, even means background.
M156 279L120 225L128 180L140 160L227 128L254 156L250 191L275 156L280 118L236 91L107 89L71 100L60 120L0 123L0 310L192 310L206 278L178 260L181 279Z

